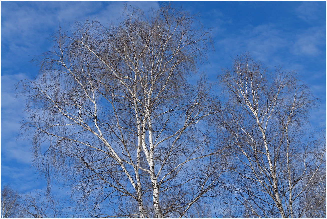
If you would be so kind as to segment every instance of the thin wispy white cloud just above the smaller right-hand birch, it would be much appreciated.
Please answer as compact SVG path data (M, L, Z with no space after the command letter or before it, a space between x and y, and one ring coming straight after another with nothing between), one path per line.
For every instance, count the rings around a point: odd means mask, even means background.
M325 27L311 27L305 30L285 30L278 24L262 24L245 26L237 34L226 34L217 37L215 49L218 57L230 59L236 54L250 51L255 58L262 60L270 66L284 64L296 69L304 69L298 65L299 59L315 61L326 50ZM223 55L224 54L224 55ZM296 57L294 57L296 56ZM300 69L300 70L301 70Z

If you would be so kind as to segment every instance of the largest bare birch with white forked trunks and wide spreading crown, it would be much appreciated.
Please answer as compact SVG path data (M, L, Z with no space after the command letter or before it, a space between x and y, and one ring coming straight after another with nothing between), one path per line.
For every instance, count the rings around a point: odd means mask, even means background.
M221 149L210 140L213 86L189 78L210 34L169 5L125 9L119 24L76 22L22 82L35 162L63 176L90 217L185 217L214 195Z

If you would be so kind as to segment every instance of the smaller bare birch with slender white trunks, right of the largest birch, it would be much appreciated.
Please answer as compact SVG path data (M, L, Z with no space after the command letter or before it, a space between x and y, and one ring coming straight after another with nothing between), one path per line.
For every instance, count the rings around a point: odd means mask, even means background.
M234 146L224 186L233 195L229 204L245 217L303 216L312 208L301 197L326 161L326 139L308 132L316 100L296 72L270 71L249 54L219 78L229 95L219 122L225 143Z

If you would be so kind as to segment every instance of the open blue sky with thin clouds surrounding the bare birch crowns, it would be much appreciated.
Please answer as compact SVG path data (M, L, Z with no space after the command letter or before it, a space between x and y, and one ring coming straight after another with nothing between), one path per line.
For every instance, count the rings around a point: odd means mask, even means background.
M74 20L97 17L102 24L119 18L123 5L145 11L156 1L1 1L1 188L10 183L20 191L43 189L31 167L29 139L17 136L26 116L24 97L15 99L15 84L38 74L29 61L51 48L50 34ZM326 2L325 1L175 1L199 13L212 28L215 51L203 66L212 80L231 66L237 54L250 51L267 66L298 70L321 104L312 111L312 126L326 124Z

